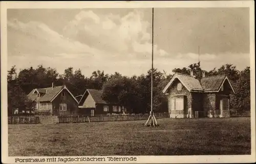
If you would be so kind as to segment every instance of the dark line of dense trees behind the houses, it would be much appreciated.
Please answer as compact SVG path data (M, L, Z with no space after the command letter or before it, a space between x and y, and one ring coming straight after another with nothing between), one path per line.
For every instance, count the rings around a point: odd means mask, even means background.
M190 74L193 69L197 78L206 76L227 74L231 80L236 94L231 95L230 107L238 110L250 110L250 67L238 70L232 64L226 64L210 71L202 70L199 63L188 67L175 68L173 72ZM8 70L8 112L12 113L15 107L31 107L28 95L35 88L48 88L52 83L55 86L66 85L74 96L82 95L86 89L102 90L102 99L112 103L119 103L134 113L147 113L151 110L151 72L133 75L131 77L115 72L105 74L104 71L94 71L90 77L82 74L80 69L72 67L59 74L55 68L45 68L38 65L37 68L25 68L17 73L16 66ZM167 112L167 97L162 93L163 88L172 78L164 70L153 69L153 110L155 112ZM81 98L81 97L79 97ZM79 99L78 99L79 101Z

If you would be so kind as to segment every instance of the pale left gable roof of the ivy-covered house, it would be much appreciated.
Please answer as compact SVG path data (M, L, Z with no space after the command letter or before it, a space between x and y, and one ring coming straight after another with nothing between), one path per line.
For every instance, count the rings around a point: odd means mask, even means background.
M181 73L176 73L172 79L170 79L169 83L166 85L166 87L163 90L163 93L167 91L167 89L174 83L175 79L179 79L180 82L185 86L185 88L188 91L199 91L202 92L203 88L200 84L200 81L196 79L193 76L186 75L186 74L181 74Z

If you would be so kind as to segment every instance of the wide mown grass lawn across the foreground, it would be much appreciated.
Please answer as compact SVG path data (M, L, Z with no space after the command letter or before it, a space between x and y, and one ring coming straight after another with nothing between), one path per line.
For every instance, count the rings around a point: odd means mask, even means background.
M250 154L250 118L9 125L9 156Z

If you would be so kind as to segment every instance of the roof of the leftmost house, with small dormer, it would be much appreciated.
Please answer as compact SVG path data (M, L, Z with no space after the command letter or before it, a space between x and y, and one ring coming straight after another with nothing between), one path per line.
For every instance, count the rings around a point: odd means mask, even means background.
M39 97L37 99L38 102L43 102L43 101L53 101L58 94L63 90L66 89L71 96L75 99L76 102L77 99L72 95L72 93L66 88L66 86L56 86L56 87L49 87L49 88L40 88L40 89L33 89L29 94L28 94L28 98L32 101L36 100L36 94L34 94L34 91L38 91L39 93L42 93L41 91L45 91L45 94L43 93L43 95L41 97Z

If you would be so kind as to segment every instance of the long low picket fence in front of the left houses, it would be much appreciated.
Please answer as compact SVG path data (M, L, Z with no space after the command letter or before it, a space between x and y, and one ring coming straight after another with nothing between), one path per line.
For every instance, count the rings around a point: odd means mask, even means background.
M156 113L156 118L167 118L167 113ZM105 122L105 121L135 121L146 120L144 115L109 115L109 116L12 116L8 117L8 124L56 124L78 122Z

